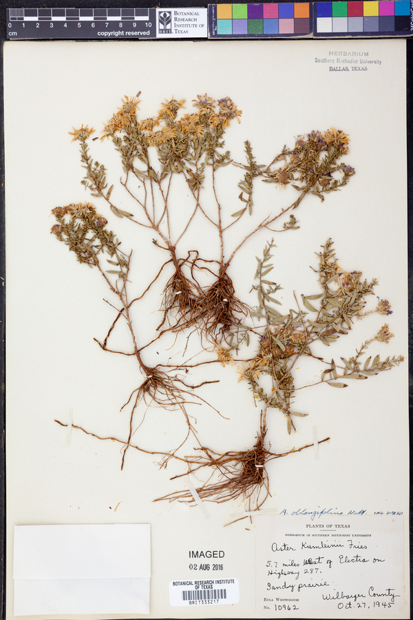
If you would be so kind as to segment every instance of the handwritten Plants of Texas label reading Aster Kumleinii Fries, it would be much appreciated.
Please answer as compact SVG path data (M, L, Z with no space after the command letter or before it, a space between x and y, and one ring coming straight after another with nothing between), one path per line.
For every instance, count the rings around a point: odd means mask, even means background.
M261 617L408 617L401 516L262 515L256 570Z

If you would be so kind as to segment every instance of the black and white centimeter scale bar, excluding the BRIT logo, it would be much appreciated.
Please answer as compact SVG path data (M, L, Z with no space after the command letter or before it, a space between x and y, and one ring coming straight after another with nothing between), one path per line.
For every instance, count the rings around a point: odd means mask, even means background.
M8 39L156 39L154 8L7 9Z

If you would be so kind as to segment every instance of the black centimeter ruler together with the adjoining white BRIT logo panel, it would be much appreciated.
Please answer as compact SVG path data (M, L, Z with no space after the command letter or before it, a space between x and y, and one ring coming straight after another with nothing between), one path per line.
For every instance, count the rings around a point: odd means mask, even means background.
M206 8L9 8L6 19L10 40L207 37Z

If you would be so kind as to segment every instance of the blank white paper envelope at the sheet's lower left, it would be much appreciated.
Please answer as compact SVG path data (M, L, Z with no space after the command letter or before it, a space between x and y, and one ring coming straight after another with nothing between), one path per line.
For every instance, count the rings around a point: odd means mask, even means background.
M14 527L14 614L149 613L147 524Z

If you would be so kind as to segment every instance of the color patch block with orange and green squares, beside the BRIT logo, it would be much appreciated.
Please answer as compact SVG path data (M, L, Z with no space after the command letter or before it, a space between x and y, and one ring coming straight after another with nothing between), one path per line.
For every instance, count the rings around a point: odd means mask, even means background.
M215 4L209 34L224 38L308 36L313 28L312 3Z

